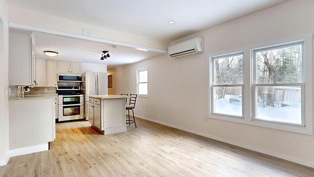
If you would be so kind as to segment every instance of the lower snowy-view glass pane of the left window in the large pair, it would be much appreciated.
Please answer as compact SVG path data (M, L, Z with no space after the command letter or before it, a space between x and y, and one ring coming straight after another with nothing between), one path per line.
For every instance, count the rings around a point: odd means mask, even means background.
M242 117L242 87L214 87L213 113Z

